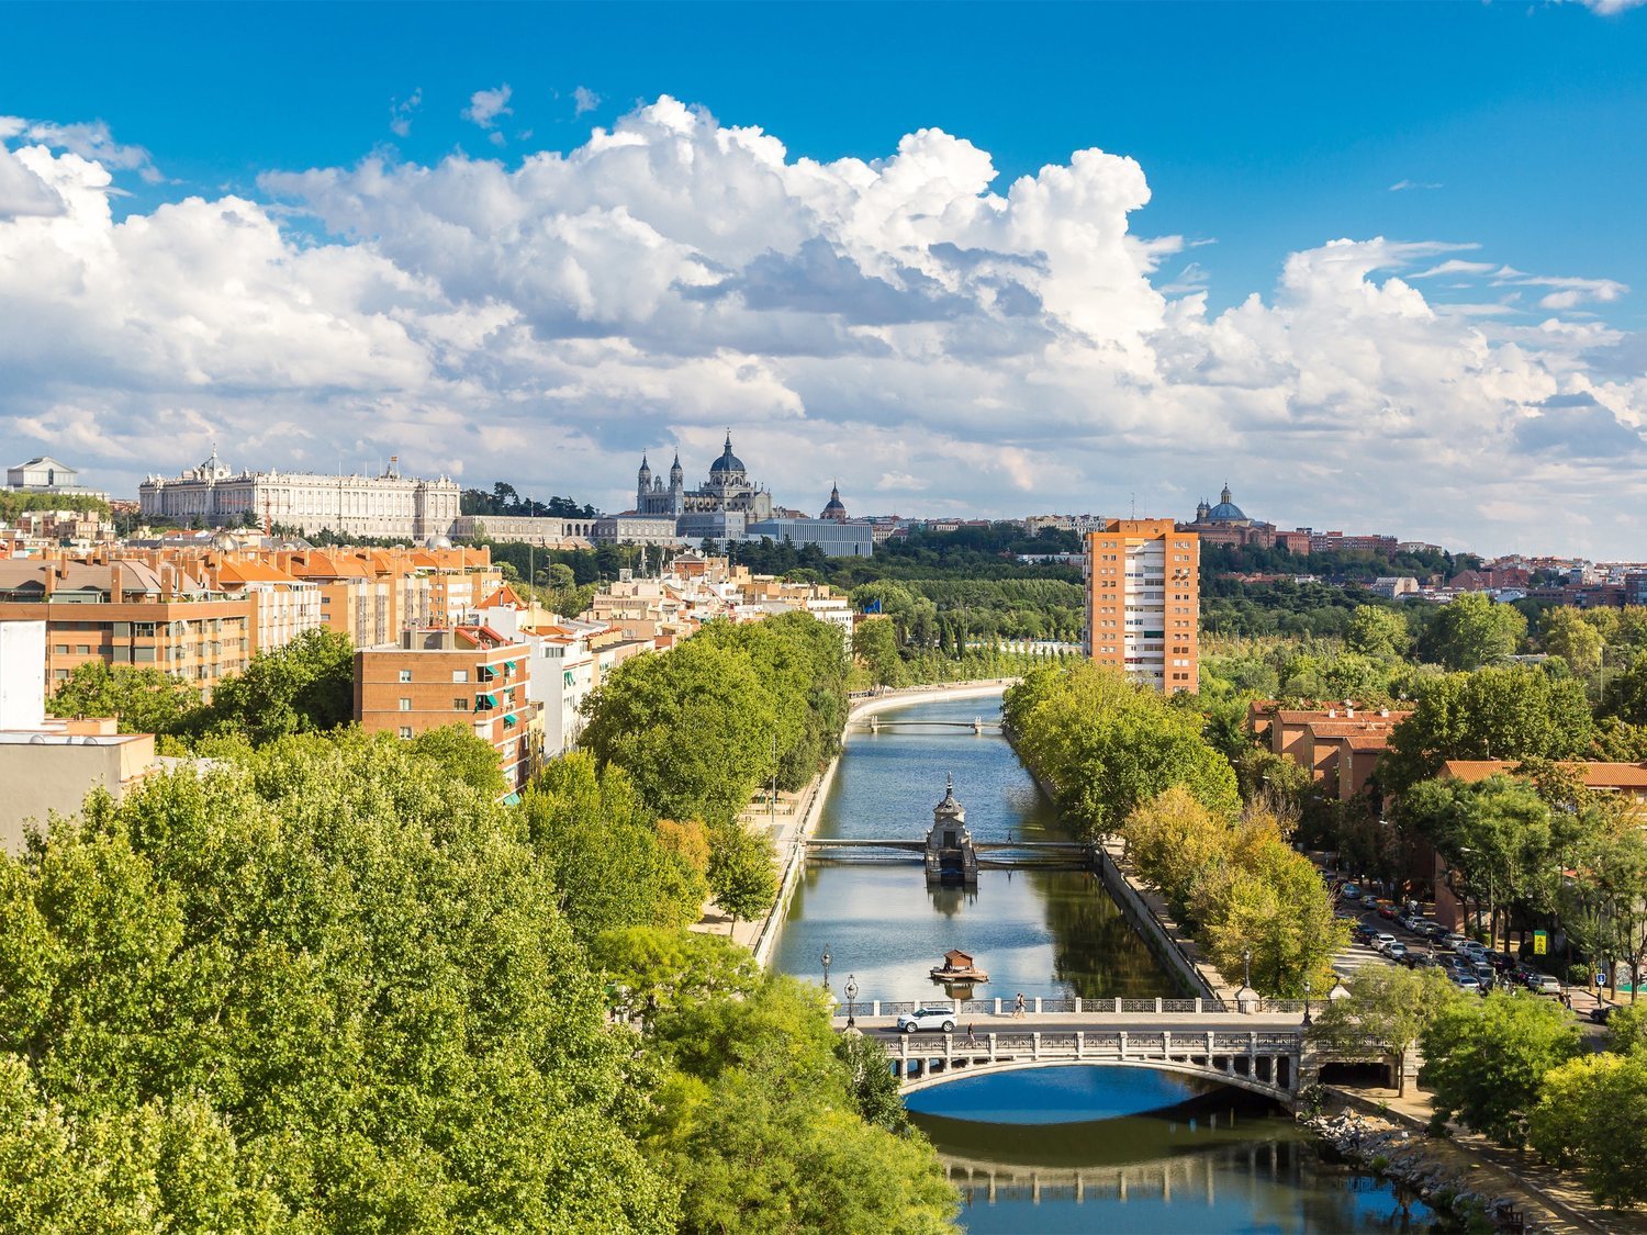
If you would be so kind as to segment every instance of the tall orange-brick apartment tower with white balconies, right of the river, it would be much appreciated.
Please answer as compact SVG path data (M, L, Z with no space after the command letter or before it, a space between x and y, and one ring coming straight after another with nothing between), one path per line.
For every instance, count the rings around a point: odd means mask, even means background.
M1199 680L1201 538L1171 519L1087 534L1085 652L1168 695Z

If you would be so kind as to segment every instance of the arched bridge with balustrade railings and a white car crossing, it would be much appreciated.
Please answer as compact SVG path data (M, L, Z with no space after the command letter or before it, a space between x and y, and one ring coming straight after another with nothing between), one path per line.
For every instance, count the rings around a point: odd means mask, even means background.
M1298 1011L1291 1004L1270 1004L1260 1013L1232 1013L1209 1001L1199 1013L1140 1016L1123 1013L1123 1001L1113 1001L1113 1009L1105 1006L1112 1001L1089 1003L1099 1003L1102 1011L1026 1016L959 1011L954 1032L901 1034L893 1016L860 1016L855 1028L883 1046L904 1092L1041 1067L1143 1067L1278 1102L1291 1100L1314 1080L1314 1054L1306 1051L1301 1004ZM1127 1003L1161 1008L1163 1003L1201 1001ZM875 1011L884 1008L879 1004ZM845 1031L845 1018L837 1018L835 1026Z

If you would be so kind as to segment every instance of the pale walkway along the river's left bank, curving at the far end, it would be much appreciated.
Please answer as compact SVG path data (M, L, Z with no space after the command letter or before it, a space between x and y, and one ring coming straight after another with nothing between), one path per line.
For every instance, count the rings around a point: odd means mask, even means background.
M937 703L942 700L996 698L1018 678L991 678L987 682L952 682L934 687L904 687L875 695L860 695L848 701L847 723L893 708L912 708L919 703ZM796 886L805 874L807 846L805 840L819 825L824 813L824 802L828 799L830 785L835 782L835 771L840 767L840 754L830 759L812 782L796 795L779 795L784 812L768 809L764 802L753 802L741 815L744 827L766 827L772 837L772 848L777 853L779 883L777 897L771 911L759 922L738 922L731 937L754 953L756 963L766 967L772 960L777 937L782 932L784 917L789 914L789 901ZM776 804L774 804L776 805ZM697 930L721 932L726 919L716 912L705 912L697 924Z

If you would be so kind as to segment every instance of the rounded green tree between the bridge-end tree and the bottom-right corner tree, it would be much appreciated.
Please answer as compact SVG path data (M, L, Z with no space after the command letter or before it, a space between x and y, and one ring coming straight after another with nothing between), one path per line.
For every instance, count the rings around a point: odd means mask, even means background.
M1495 991L1448 1003L1420 1041L1436 1118L1523 1144L1545 1075L1578 1054L1578 1026L1560 1004Z

